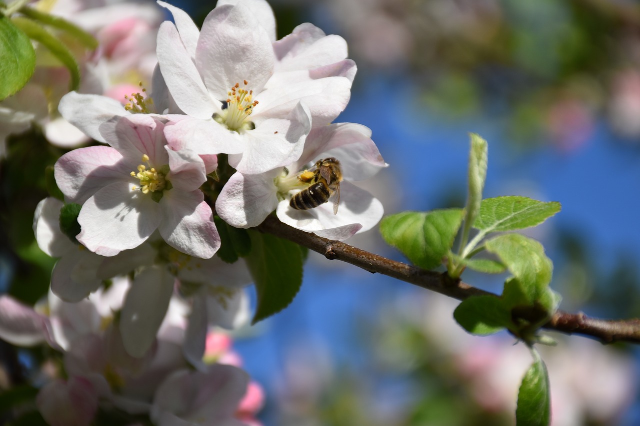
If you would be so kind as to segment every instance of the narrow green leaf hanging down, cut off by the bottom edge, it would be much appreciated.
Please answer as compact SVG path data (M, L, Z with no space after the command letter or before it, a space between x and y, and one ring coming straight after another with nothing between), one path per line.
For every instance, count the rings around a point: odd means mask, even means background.
M518 391L517 426L547 426L551 422L547 366L537 351L532 352L534 363L524 375Z

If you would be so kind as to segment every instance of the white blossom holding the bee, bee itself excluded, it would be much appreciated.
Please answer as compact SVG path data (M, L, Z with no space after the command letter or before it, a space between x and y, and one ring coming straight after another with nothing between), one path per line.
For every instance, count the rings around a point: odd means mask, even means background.
M340 183L337 214L332 203L314 209L296 210L289 205L291 196L308 187L299 177L318 159L333 157L341 164L346 181ZM353 123L336 123L313 129L300 159L286 168L260 175L235 173L216 201L216 212L229 225L239 228L257 226L276 210L278 218L306 232L343 240L376 225L383 214L380 201L349 180L363 180L387 164L371 140L371 130Z

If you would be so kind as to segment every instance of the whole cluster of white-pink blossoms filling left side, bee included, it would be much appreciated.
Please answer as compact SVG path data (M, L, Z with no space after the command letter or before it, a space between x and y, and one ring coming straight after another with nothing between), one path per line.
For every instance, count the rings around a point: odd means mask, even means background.
M371 131L333 122L356 73L343 38L301 24L276 40L264 0L219 0L200 29L157 3L173 21L154 27L126 3L84 10L92 17L84 24L106 10L122 10L127 22L87 28L100 49L83 67L117 57L111 75L127 74L137 55L148 69L150 45L157 65L126 95L131 85L108 79L52 100L60 116L42 123L47 138L59 130L58 145L97 141L60 157L54 177L63 200L36 209L38 246L59 258L46 308L0 299L0 337L47 342L63 354L67 379L38 396L51 424L88 424L99 406L167 425L255 423L259 404L241 402L255 384L207 350L213 327L246 322L245 287L255 279L243 258L216 256L216 223L252 228L275 213L344 240L383 214L351 183L387 166ZM194 394L178 395L182 387Z

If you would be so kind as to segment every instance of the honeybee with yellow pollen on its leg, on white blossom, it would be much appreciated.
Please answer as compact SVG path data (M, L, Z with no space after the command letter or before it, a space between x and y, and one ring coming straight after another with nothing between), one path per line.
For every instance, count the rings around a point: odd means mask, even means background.
M333 197L333 214L337 214L342 180L340 162L329 157L318 160L314 167L315 171L305 171L298 177L302 182L311 184L292 196L289 205L298 210L313 209Z

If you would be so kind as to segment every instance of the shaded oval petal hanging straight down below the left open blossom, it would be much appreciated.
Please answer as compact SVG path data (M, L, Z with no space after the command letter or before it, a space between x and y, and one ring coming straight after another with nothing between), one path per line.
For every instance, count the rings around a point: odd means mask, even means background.
M120 315L122 342L131 356L140 358L156 340L174 281L162 267L146 268L134 278Z

